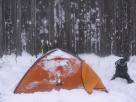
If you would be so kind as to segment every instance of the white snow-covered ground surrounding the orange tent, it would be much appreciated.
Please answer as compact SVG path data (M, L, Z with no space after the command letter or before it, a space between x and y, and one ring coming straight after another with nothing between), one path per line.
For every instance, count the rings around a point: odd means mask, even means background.
M93 91L91 95L84 89L53 90L33 94L14 94L19 80L37 58L23 53L22 56L3 56L0 59L0 102L136 102L136 83L127 84L126 80L117 78L110 81L115 71L117 56L98 57L94 54L82 54L85 60L101 77L109 93ZM136 57L128 62L128 73L136 82Z

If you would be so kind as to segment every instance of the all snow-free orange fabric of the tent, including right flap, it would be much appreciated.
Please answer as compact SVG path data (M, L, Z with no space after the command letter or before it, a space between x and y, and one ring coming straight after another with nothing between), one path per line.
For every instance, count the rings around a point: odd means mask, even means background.
M45 71L39 65L34 65L21 80L15 93L32 93L37 91L50 91L52 89L58 90L60 88L74 89L80 86L84 86L88 93L92 93L93 89L106 91L100 78L86 63L82 63L81 67L82 68L79 68L77 73L68 77L62 77L61 79L64 84L57 86L48 82L48 80L54 79L51 73L49 75L49 72ZM31 88L33 84L35 84L35 86Z

